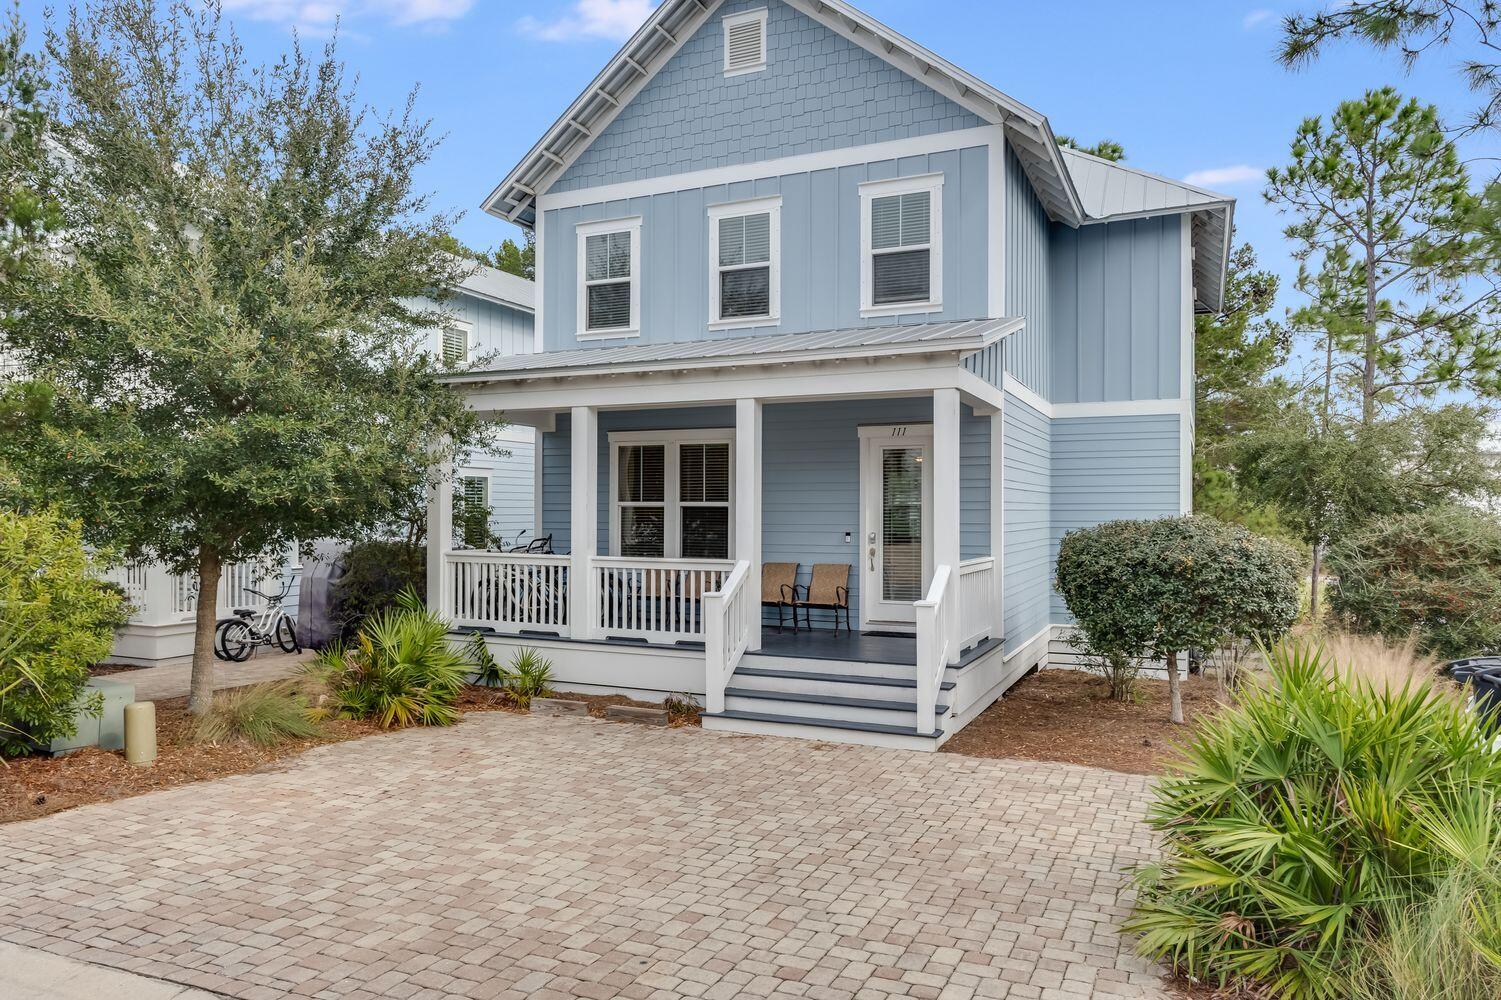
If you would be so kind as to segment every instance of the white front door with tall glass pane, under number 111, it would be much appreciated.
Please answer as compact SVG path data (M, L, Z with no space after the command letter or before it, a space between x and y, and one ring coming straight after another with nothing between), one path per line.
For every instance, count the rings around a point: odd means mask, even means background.
M917 620L932 580L932 426L860 428L860 619Z

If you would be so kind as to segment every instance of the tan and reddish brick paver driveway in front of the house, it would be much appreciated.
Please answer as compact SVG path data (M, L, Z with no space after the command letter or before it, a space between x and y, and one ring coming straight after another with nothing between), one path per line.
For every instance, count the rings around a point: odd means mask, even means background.
M1160 997L1114 929L1145 791L471 716L0 827L0 938L246 1000Z

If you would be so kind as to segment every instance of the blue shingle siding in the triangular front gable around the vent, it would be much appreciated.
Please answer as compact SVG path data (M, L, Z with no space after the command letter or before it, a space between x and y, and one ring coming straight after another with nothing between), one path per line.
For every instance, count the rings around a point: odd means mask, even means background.
M767 8L767 68L725 77L725 15ZM554 182L552 192L985 125L779 0L729 0Z

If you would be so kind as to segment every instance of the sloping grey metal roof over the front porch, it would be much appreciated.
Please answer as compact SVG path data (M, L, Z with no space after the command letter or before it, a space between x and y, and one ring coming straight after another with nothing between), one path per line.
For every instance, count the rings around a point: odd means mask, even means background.
M964 320L959 323L914 323L905 326L862 326L814 333L775 336L731 336L725 339L683 341L675 344L626 344L587 347L567 351L516 354L503 359L501 368L450 375L452 384L558 378L585 374L630 374L720 368L754 362L778 365L851 357L890 357L893 354L967 354L983 350L1021 330L1022 317Z

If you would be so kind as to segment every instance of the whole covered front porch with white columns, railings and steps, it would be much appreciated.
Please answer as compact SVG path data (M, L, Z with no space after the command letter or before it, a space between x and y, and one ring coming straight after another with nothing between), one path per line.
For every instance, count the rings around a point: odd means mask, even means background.
M429 599L492 646L543 649L570 686L692 692L725 719L766 716L749 697L899 716L935 737L968 707L950 674L1000 652L1004 440L1000 392L935 354L902 378L883 377L890 357L750 384L717 369L471 389L540 431L552 551L434 548ZM453 538L446 485L431 518ZM791 607L808 599L844 608ZM758 673L793 676L743 683Z

